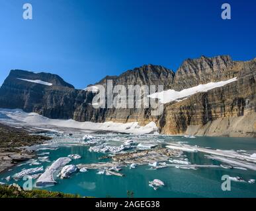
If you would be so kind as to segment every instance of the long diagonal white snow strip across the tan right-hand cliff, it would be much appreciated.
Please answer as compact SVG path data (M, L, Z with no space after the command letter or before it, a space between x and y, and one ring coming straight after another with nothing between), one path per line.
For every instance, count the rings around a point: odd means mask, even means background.
M225 86L226 84L230 84L237 80L237 77L219 81L219 82L209 82L207 84L199 84L198 86L193 86L191 88L186 88L181 91L175 90L165 90L163 92L156 92L154 94L148 95L148 98L157 98L162 104L167 104L169 102L180 102L182 100L187 99L187 97L196 94L198 92L208 92L208 90L212 90L214 88Z

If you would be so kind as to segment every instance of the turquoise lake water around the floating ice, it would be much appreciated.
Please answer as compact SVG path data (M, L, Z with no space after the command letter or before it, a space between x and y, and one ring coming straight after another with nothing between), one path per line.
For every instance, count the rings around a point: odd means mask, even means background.
M77 140L77 136L56 137L54 138L57 150L40 150L42 152L50 152L50 162L43 162L39 166L48 167L50 164L69 154L79 154L82 156L79 160L72 160L69 164L91 164L100 162L98 158L105 154L97 152L89 152L88 146L68 146L67 143ZM187 142L187 144L202 147L210 147L220 150L246 150L247 154L256 152L255 138L221 138L221 137L196 137L184 138L182 136L132 136L132 135L100 135L99 139L104 138L112 143L118 143L123 138L129 140L144 140L157 142ZM60 145L60 142L64 145ZM40 146L46 147L46 146ZM186 158L191 164L202 165L220 165L222 163L206 158L202 152L184 152ZM36 158L35 158L36 159ZM104 160L107 162L108 160ZM101 160L102 162L102 160ZM167 161L168 163L168 161ZM24 163L23 166L12 167L11 171L5 171L0 174L0 179L21 171L24 168L31 168ZM149 169L149 166L139 166L135 169L129 167L122 168L125 177L117 177L114 175L99 175L97 170L90 170L81 173L73 173L69 179L58 179L56 185L44 187L50 191L62 191L64 193L79 194L82 196L96 197L127 197L127 191L133 191L134 197L256 197L256 183L235 182L231 181L231 191L222 191L222 175L230 175L230 177L242 177L245 181L256 179L256 171L247 169L225 169L222 167L204 167L197 169L178 169L176 167L166 167L163 169ZM164 187L153 190L149 187L149 181L160 179L165 183ZM5 180L0 180L7 183ZM11 179L8 183L19 183L22 185L24 181L14 181Z

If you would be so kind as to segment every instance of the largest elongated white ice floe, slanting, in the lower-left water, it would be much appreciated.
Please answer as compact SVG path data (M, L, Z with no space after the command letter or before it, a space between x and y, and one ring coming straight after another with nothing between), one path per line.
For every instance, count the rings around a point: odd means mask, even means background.
M36 181L36 186L54 185L56 181L54 180L54 173L58 171L61 167L71 162L70 158L58 158Z

